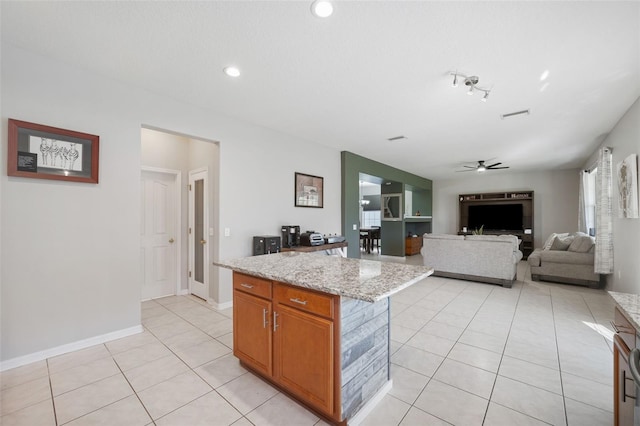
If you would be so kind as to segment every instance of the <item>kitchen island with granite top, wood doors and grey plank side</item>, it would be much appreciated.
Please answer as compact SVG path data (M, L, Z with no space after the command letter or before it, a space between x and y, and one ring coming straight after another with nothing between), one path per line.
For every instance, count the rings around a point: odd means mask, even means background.
M433 273L301 252L216 265L234 271L234 355L337 424L357 422L391 388L389 296Z

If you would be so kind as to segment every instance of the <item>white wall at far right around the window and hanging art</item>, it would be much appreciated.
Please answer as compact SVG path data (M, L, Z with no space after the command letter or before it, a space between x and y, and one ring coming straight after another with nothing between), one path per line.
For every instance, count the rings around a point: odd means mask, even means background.
M613 268L607 276L607 289L640 294L640 219L618 218L618 190L616 166L630 154L640 155L640 98L615 125L601 147L613 148ZM596 150L585 163L591 167L598 156ZM639 182L640 183L640 182Z

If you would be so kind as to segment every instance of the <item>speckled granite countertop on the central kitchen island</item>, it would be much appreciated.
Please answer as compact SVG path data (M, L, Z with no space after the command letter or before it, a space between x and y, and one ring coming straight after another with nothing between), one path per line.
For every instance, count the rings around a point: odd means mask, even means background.
M284 252L221 260L236 272L352 299L377 302L433 273L426 266Z

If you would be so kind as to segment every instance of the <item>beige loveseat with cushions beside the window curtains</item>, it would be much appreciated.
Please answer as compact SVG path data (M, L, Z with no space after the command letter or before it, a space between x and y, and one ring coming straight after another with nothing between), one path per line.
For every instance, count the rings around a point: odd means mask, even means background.
M600 288L594 271L595 238L582 232L551 234L541 249L529 255L531 279Z

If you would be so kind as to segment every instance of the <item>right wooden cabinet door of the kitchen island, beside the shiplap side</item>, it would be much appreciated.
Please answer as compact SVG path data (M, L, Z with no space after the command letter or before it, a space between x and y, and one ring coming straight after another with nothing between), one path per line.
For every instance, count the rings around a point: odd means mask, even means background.
M334 324L276 304L275 379L313 407L334 409Z

